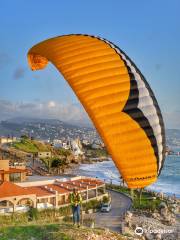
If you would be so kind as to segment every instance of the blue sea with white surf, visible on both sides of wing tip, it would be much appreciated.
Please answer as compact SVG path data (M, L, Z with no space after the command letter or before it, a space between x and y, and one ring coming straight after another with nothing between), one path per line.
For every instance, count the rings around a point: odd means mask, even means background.
M97 177L113 184L120 184L121 182L119 171L111 159L93 164L80 164L73 170L73 173ZM163 192L168 196L175 194L177 198L180 198L180 156L167 156L158 180L147 188Z

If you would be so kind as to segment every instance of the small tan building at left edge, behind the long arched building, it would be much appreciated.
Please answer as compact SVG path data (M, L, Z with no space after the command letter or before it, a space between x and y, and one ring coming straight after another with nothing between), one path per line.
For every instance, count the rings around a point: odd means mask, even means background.
M0 181L23 182L27 172L25 166L9 166L9 160L0 159Z

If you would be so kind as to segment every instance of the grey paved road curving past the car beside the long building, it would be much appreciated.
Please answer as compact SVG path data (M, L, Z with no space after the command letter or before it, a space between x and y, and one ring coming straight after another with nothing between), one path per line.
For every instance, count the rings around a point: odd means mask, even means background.
M89 217L95 220L96 227L108 228L111 231L120 232L124 213L130 208L131 200L127 196L109 191L111 194L111 211L109 213L97 212L91 214ZM88 215L85 216L88 218Z

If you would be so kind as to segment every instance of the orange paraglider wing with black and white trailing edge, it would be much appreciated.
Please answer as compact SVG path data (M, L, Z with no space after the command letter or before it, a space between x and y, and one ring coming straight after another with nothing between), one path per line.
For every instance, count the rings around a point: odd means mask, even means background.
M128 187L155 182L164 161L164 124L152 90L127 55L105 39L77 34L29 50L32 70L48 61L84 106Z

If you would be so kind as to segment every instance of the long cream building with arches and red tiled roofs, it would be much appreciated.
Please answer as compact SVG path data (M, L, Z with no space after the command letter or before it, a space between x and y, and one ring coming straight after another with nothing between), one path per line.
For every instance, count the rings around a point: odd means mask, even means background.
M0 184L0 213L25 211L28 206L37 209L59 208L70 204L70 194L76 188L84 202L102 199L107 195L105 183L96 178L74 177L64 180Z

